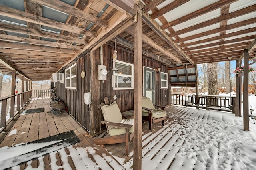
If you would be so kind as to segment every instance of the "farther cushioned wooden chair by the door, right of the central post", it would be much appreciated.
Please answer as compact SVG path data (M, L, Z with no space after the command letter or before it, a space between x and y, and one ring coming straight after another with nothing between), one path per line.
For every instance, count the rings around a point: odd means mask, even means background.
M166 119L166 111L164 106L155 105L161 107L161 109L155 109L152 101L148 97L142 97L142 117L143 120L148 121L149 130L152 130L152 123L162 121L164 126L164 120Z

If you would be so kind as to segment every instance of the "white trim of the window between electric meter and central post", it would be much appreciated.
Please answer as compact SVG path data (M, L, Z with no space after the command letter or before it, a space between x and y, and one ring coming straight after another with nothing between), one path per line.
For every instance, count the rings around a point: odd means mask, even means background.
M132 90L132 89L134 89L134 65L132 63L127 63L124 61L116 60L115 62L113 62L113 68L115 68L115 63L121 63L121 64L131 66L132 67L132 75L118 74L118 73L115 73L117 71L113 71L113 76L112 76L113 90ZM132 82L131 82L132 87L116 87L116 85L115 85L116 84L116 76L117 77L130 77L132 79Z

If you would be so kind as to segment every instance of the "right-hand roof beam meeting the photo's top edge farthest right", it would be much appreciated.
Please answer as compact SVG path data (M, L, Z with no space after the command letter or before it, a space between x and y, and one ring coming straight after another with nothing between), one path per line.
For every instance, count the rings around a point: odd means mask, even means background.
M185 21L188 21L190 19L196 18L198 16L201 16L203 14L206 14L208 12L211 12L213 10L221 8L222 6L226 6L226 5L231 4L233 2L236 2L236 1L238 1L238 0L220 0L220 1L215 2L213 4L210 4L210 5L208 5L208 6L204 7L204 8L201 8L200 10L197 10L195 12L192 12L190 14L182 16L181 18L178 18L178 19L176 19L176 20L174 20L172 22L169 22L167 24L164 24L164 25L161 26L161 28L163 30L164 29L168 29L168 28L170 28L172 26L175 26L175 25L180 24L182 22L185 22Z

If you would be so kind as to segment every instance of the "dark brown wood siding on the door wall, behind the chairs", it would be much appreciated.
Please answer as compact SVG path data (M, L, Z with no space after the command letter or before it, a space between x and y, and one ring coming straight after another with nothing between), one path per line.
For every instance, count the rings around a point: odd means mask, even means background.
M133 63L133 51L122 50L121 47L116 48L117 59L120 61L125 61L128 63ZM108 75L106 81L94 80L95 94L94 94L94 107L92 113L92 133L97 133L103 130L105 127L101 125L100 121L103 120L102 113L100 111L100 103L104 101L104 97L108 97L109 100L114 100L113 97L116 95L116 103L118 104L120 111L128 111L133 109L133 90L113 90L112 88L112 68L113 68L113 53L114 47L112 45L105 44L103 46L103 65L107 66ZM97 65L100 64L100 53L95 51L95 74L98 75ZM166 65L157 63L156 61L149 59L148 57L143 57L143 66L156 69L158 67L165 73L167 73ZM156 73L156 104L158 105L169 105L170 104L170 94L168 89L160 89L160 73Z

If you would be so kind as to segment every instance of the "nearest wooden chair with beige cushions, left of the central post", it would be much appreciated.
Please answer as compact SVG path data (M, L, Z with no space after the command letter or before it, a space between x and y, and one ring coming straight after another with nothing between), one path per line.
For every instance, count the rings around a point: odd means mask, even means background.
M109 105L101 104L101 110L109 136L94 138L94 144L126 143L126 156L129 152L130 135L133 133L133 119L122 119L122 115L116 101Z

